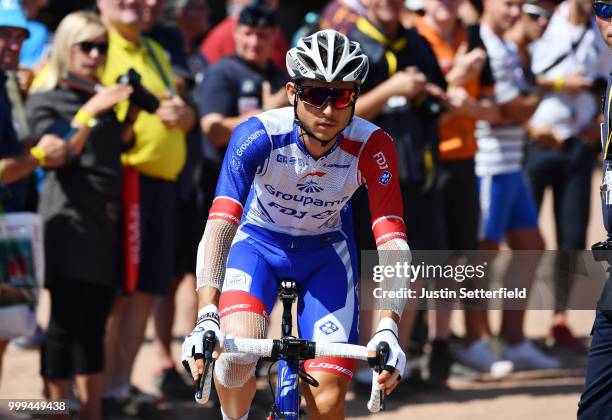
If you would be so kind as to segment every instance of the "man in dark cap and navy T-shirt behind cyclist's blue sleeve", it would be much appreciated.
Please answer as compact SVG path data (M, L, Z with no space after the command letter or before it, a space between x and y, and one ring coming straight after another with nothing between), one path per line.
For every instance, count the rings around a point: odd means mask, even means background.
M232 131L246 118L288 105L285 74L271 61L276 29L270 6L242 9L234 29L236 55L211 66L198 88L202 131L219 150L225 150Z

